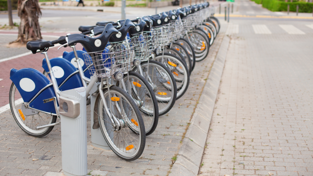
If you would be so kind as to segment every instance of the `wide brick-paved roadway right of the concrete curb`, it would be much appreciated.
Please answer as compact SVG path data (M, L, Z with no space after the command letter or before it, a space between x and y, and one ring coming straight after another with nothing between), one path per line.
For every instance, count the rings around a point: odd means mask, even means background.
M199 175L313 175L313 35L230 37Z

